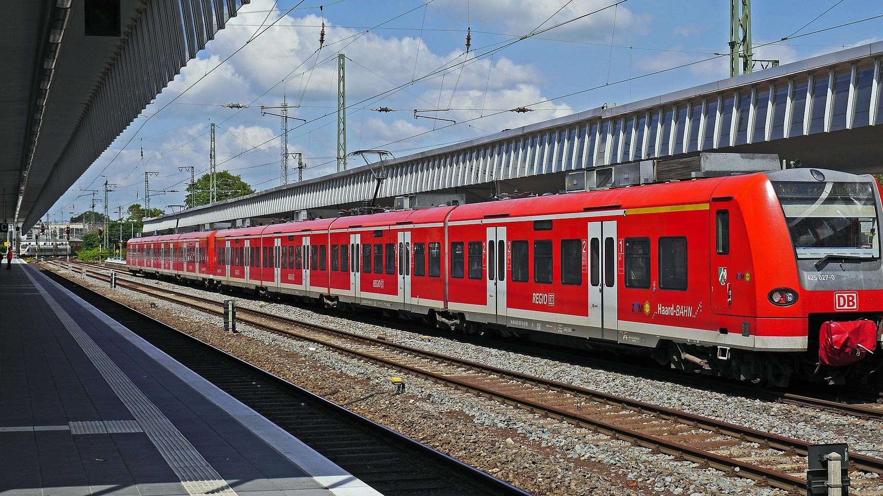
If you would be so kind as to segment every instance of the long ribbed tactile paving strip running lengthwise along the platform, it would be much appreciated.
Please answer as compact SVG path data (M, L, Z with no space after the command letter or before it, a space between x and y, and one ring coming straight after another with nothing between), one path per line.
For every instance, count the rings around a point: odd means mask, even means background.
M73 339L83 349L98 372L102 374L104 380L107 380L110 388L119 396L120 401L132 412L135 422L147 434L147 438L154 443L162 458L169 463L171 470L180 478L181 485L185 490L190 494L235 496L237 493L223 480L221 474L212 468L200 455L200 452L184 437L184 434L177 430L177 427L162 414L162 411L156 408L156 405L141 392L139 387L129 380L125 372L120 370L104 350L89 337L89 334L79 327L71 315L58 304L55 297L52 297L31 274L27 272L25 274L40 291L43 299L49 304L49 308L71 333ZM102 427L107 429L103 423Z

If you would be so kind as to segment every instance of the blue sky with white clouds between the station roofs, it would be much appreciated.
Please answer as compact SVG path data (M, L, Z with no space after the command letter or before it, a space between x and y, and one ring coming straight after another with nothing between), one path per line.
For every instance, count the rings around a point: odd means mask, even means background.
M728 56L714 55L728 53L722 0L298 2L244 5L57 201L49 220L86 211L92 195L80 190L102 190L105 180L117 184L109 193L113 218L117 207L143 205L146 171L158 173L150 177L151 207L177 209L169 206L184 203L190 181L178 168L194 167L197 178L208 171L210 123L218 170L241 175L256 191L282 184L281 119L261 116L260 106L283 98L299 105L290 116L306 119L290 119L288 132L289 152L306 162L304 178L335 172L338 53L346 56L348 150L381 148L396 157L728 77ZM755 0L755 58L788 64L878 41L883 18L834 26L879 15L879 0ZM379 107L395 111L372 110ZM506 111L518 107L533 111ZM413 109L441 110L414 118ZM291 165L289 179L297 180Z

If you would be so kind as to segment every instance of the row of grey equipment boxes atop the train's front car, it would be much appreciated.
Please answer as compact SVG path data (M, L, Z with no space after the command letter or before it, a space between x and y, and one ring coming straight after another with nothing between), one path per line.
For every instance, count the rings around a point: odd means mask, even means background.
M777 154L701 153L668 160L645 160L570 172L565 192L591 192L638 184L721 177L779 170Z

